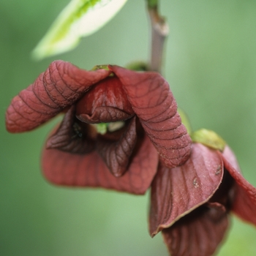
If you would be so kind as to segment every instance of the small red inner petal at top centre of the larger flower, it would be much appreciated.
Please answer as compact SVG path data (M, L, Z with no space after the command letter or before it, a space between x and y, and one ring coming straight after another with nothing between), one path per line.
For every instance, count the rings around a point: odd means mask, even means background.
M120 80L113 76L97 83L79 100L76 114L89 124L122 121L135 115Z

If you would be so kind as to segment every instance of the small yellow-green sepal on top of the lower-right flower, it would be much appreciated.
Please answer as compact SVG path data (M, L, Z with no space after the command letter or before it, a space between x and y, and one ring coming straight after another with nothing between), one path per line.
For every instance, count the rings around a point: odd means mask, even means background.
M210 148L223 151L226 143L216 132L209 129L198 129L190 136L193 142L202 143Z

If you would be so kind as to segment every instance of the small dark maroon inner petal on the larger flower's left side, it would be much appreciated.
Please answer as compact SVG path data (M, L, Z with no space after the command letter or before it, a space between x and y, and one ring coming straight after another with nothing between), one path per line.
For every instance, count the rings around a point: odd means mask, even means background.
M75 106L72 106L65 114L59 128L48 138L46 148L57 148L74 154L88 154L95 148L92 129L94 128L89 124L83 124L75 118ZM96 133L95 130L95 135Z

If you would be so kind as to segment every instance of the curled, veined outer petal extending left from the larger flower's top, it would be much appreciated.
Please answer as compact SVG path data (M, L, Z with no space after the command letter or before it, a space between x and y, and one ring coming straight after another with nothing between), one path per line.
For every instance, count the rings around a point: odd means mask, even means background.
M38 127L109 74L104 69L86 71L69 62L53 61L33 84L12 99L6 113L7 130L25 132Z

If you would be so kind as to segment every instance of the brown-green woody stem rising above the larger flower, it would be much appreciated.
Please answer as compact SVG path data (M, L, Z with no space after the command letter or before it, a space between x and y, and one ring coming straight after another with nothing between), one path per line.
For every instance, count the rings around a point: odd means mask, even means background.
M158 13L158 0L147 0L148 14L151 20L151 61L150 69L161 72L162 53L165 38L169 32L165 19Z

